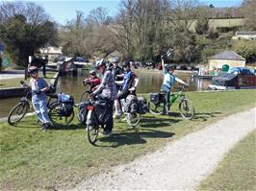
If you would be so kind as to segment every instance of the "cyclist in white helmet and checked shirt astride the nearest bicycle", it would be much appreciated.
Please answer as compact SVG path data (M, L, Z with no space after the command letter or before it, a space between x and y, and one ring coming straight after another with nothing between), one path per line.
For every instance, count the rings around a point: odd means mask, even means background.
M90 94L91 97L98 95L100 99L106 100L109 103L109 107L107 107L107 113L109 114L109 118L106 122L106 128L104 129L104 135L111 135L113 130L113 107L114 100L116 97L116 87L115 87L115 78L112 74L111 70L107 70L107 66L105 61L97 60L95 62L95 67L103 75L101 84Z

